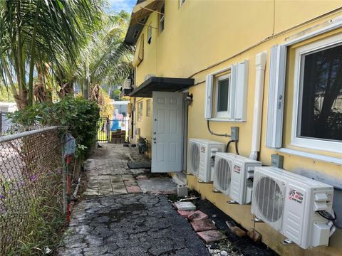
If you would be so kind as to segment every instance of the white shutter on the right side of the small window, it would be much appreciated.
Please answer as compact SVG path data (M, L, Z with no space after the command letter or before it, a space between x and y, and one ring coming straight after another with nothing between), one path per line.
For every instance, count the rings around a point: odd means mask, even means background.
M248 64L248 60L237 63L234 119L240 121L246 121Z

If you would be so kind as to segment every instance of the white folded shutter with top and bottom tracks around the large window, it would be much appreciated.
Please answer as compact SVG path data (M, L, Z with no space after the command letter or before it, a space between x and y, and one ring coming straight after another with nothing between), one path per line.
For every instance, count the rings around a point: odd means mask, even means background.
M326 24L326 22L324 23ZM296 38L292 37L286 43L274 46L271 49L271 63L269 70L269 100L267 111L267 129L266 129L266 147L277 149L279 152L303 156L309 159L316 159L333 164L341 164L341 159L323 154L314 154L296 149L288 149L282 147L282 127L284 123L284 85L286 74L286 51L287 47L296 43L306 41L315 36L322 35L337 28L342 28L342 16L332 18L328 21L328 25L318 28L309 33L297 33ZM273 60L273 61L272 61ZM272 68L273 66L273 68ZM341 148L340 148L341 152Z

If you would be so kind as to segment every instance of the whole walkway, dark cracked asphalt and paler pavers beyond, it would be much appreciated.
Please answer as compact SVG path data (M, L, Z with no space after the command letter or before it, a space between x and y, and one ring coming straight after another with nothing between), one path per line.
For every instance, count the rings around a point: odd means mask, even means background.
M131 160L144 157L120 144L95 152L86 166L86 199L75 206L57 255L209 255L163 194L175 193L172 179L133 173Z

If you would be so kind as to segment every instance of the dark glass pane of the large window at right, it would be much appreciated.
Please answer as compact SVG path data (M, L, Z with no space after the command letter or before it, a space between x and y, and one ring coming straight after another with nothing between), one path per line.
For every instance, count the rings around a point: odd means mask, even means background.
M297 136L342 141L342 45L302 57Z

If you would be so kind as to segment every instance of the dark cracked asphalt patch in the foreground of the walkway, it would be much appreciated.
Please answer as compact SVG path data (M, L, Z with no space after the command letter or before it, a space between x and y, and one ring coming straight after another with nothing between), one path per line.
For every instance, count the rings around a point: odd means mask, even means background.
M58 255L209 255L165 195L125 194L78 204Z

